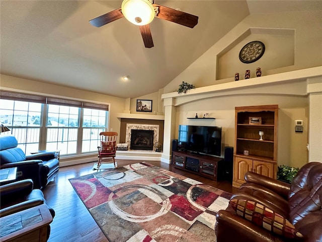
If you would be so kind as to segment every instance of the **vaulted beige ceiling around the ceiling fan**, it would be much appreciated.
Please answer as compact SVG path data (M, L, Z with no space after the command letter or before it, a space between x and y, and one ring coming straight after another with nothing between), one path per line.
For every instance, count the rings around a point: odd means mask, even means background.
M88 22L120 8L122 1L0 1L1 73L139 97L166 86L250 12L277 11L276 2L282 6L278 11L292 10L290 1L155 0L199 21L190 29L155 18L150 24L154 47L145 48L138 26L125 18L100 28ZM291 2L314 7L320 1ZM123 75L130 80L122 81Z

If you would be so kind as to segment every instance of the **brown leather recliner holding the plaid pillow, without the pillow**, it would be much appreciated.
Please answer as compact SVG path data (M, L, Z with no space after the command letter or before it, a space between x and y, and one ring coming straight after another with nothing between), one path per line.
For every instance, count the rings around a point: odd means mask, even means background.
M217 242L223 241L322 241L322 163L305 164L292 184L254 172L247 172L247 181L230 198L226 210L216 214ZM303 237L288 238L259 226L250 217L236 213L232 201L247 200L261 204L284 217ZM235 209L233 209L233 207ZM242 206L241 206L242 207Z

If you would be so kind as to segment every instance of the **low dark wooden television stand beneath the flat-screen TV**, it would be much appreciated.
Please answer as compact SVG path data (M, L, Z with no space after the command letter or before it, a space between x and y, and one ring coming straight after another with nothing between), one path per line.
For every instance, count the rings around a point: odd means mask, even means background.
M222 158L187 151L174 151L172 165L215 181L222 179L224 174Z

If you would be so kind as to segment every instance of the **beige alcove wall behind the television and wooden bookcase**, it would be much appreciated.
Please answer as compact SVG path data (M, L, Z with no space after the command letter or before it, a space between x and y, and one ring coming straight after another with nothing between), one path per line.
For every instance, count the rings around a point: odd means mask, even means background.
M235 106L250 105L279 105L278 120L278 165L286 164L301 167L307 162L308 135L308 98L277 95L247 95L231 97L213 97L187 103L177 107L176 131L178 138L179 125L221 126L222 127L222 155L224 146L234 146L234 118ZM209 113L209 117L216 119L187 119L187 117L202 116ZM304 124L303 133L295 133L294 120L301 119Z

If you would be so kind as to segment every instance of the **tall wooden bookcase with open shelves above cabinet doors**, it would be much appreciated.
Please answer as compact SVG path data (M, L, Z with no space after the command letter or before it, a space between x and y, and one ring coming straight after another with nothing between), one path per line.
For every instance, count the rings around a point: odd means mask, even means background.
M235 107L233 187L245 183L247 171L276 178L277 128L278 105ZM260 131L264 132L263 140Z

